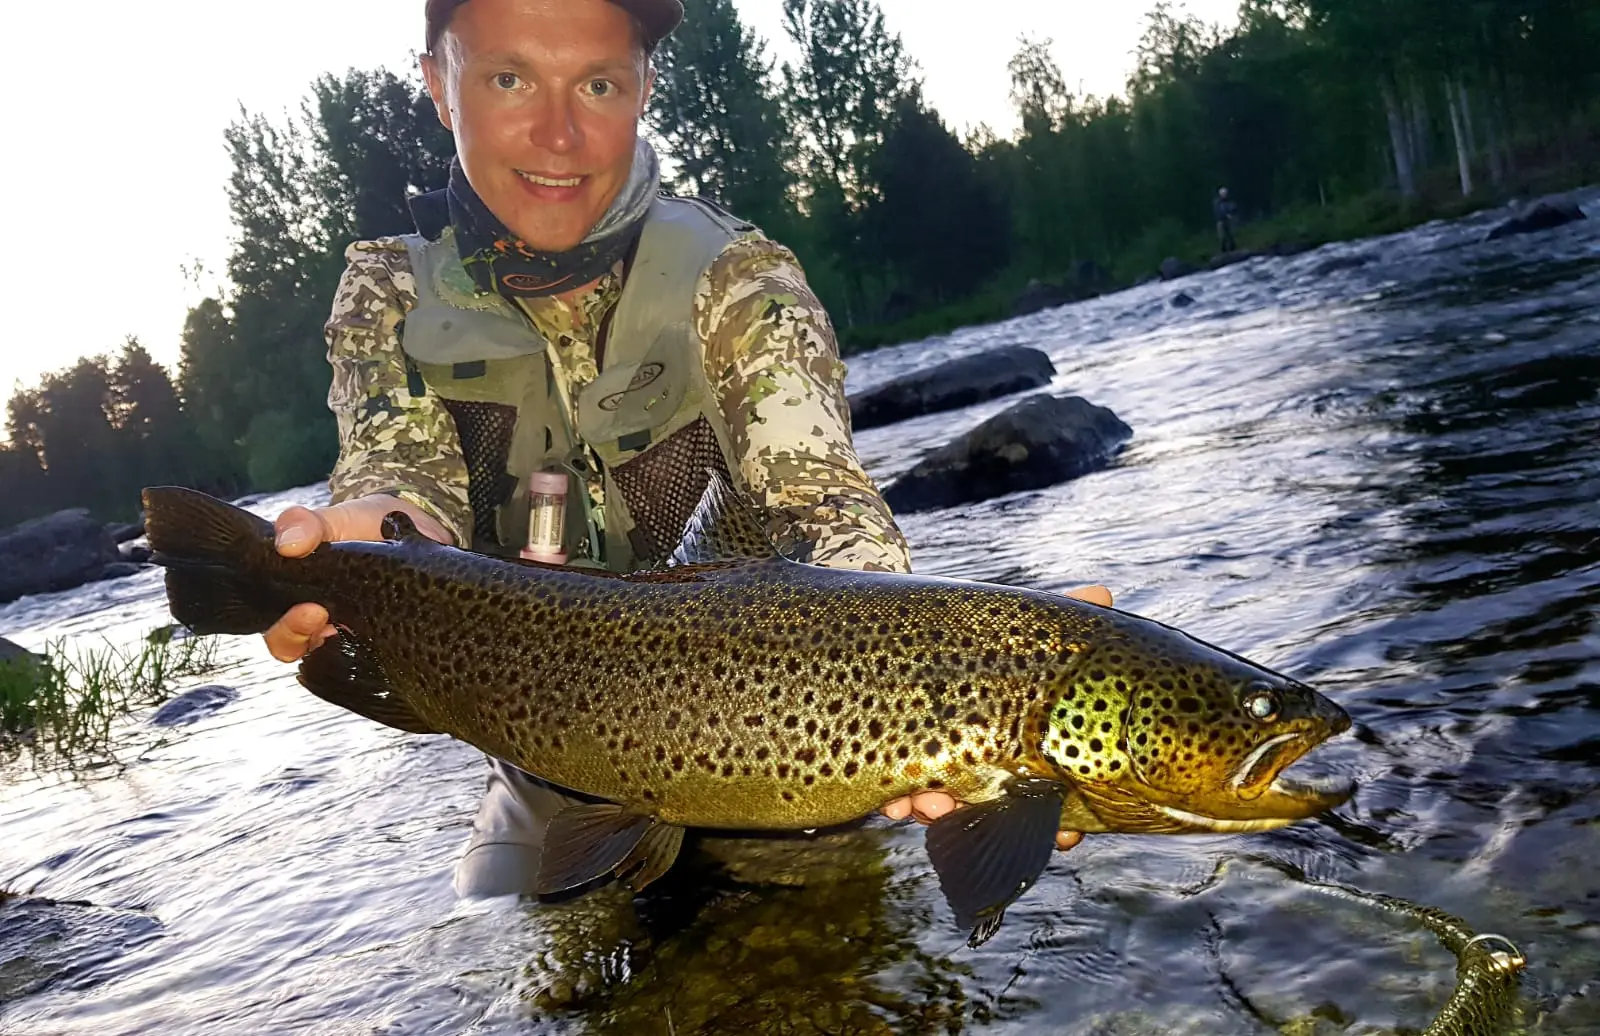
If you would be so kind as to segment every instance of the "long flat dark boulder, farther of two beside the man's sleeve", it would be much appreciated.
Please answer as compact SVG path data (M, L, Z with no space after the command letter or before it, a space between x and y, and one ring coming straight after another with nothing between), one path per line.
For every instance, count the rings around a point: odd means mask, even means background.
M850 396L856 432L896 420L960 409L984 400L1048 385L1056 365L1037 349L1006 345L950 360Z

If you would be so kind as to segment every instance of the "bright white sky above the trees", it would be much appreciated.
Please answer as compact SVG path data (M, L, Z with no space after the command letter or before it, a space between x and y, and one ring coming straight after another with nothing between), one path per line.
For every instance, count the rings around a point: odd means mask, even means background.
M1019 35L1053 38L1067 83L1122 90L1150 3L880 0L958 133L1014 128L1006 61ZM787 54L781 0L736 0ZM214 289L232 229L222 130L240 106L282 120L322 72L411 67L422 0L78 0L16 3L13 106L0 163L16 302L0 337L0 392L138 336L176 368L184 315ZM1237 0L1189 0L1232 22ZM16 24L21 19L21 24ZM208 273L186 278L198 262ZM0 432L3 436L3 432Z

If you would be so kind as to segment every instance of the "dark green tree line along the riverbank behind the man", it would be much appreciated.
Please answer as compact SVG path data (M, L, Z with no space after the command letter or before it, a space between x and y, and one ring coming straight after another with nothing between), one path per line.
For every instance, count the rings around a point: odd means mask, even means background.
M1115 96L1074 93L1050 42L1021 38L1010 137L942 122L877 0L784 0L781 62L733 0L686 8L648 112L670 187L792 246L846 342L1030 280L1131 280L1205 248L1219 185L1246 219L1326 235L1595 168L1600 0L1243 0L1230 29L1163 2ZM416 77L350 70L226 141L227 289L190 310L176 376L130 341L13 395L0 523L131 515L154 481L326 475L342 249L411 229L406 198L443 185L451 139Z

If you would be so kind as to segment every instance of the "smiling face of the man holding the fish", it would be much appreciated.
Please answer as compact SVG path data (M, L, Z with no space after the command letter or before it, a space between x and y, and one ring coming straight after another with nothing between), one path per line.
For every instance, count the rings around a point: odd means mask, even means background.
M472 0L422 58L472 189L533 248L566 251L627 182L650 78L608 0Z

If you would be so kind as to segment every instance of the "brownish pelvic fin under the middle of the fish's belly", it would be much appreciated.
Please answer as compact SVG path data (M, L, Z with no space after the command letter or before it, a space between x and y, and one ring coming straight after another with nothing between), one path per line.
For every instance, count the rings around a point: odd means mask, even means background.
M630 876L637 891L672 867L682 843L683 828L661 823L626 806L568 806L550 817L544 830L534 891L539 895L565 892L600 875L638 868Z

